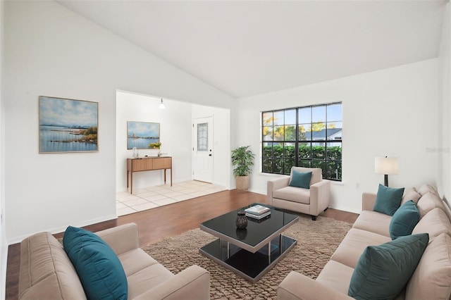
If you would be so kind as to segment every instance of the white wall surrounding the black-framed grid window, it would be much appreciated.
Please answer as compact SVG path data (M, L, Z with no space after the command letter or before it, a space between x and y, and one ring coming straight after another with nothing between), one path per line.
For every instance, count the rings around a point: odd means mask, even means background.
M316 85L237 99L237 144L259 154L251 178L252 192L266 194L277 175L259 173L260 112L342 101L342 182L332 183L333 208L361 211L362 192L376 192L383 175L374 173L376 156L400 158L391 187L437 185L437 59L345 77ZM357 188L359 185L359 188Z

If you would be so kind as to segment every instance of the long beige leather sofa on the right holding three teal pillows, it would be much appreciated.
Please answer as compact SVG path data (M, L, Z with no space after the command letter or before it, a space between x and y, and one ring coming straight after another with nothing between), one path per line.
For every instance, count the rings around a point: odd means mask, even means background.
M396 299L450 299L451 222L446 204L435 188L423 185L404 193L402 203L417 201L420 215L412 235L427 232L429 242L414 274ZM312 280L292 271L278 287L278 299L352 299L352 273L366 246L390 242L390 215L373 211L376 194L362 195L362 213L330 261Z

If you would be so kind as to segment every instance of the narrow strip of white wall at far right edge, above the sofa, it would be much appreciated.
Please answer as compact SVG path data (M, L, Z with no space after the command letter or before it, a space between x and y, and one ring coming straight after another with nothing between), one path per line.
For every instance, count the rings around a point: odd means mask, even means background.
M446 4L444 13L438 55L440 143L437 151L440 159L438 187L449 203L451 200L451 8L449 3Z

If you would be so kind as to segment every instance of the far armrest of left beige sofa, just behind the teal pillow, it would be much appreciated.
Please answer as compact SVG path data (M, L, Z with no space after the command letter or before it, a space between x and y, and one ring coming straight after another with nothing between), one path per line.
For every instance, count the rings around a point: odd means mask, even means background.
M106 230L95 232L106 244L111 246L116 255L140 247L140 232L138 225L128 223Z

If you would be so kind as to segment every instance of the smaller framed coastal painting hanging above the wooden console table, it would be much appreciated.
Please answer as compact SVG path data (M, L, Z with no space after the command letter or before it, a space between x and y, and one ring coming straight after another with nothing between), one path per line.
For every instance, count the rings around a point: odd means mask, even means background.
M149 149L160 142L160 123L127 122L127 149Z

